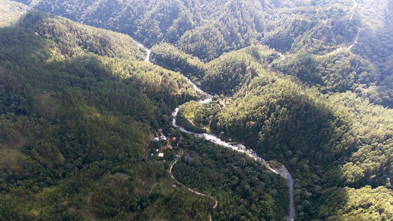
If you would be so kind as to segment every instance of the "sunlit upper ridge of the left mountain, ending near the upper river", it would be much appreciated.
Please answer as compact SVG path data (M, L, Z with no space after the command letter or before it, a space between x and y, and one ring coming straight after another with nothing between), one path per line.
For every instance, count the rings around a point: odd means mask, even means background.
M17 26L32 29L40 36L54 40L65 56L84 51L125 59L144 60L146 57L146 52L127 35L81 25L47 13L30 11Z

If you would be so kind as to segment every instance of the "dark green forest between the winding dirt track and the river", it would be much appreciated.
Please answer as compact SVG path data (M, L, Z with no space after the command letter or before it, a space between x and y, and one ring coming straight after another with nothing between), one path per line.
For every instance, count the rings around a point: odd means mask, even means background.
M217 197L214 220L281 220L288 210L286 181L242 153L190 136L173 174L184 185Z

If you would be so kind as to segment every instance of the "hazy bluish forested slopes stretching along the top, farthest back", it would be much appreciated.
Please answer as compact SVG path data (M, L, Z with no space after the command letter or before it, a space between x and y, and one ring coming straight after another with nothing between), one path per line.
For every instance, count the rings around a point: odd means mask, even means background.
M178 43L187 53L206 60L256 41L282 52L334 50L351 42L367 19L345 1L33 1L31 6L130 34L148 46L163 40ZM375 13L379 16L383 11Z

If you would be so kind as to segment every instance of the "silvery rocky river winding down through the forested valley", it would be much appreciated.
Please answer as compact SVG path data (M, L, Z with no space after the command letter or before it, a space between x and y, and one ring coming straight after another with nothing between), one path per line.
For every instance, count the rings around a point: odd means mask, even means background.
M147 56L146 56L145 61L146 61L146 62L149 62L149 60L150 60L150 50L147 49L147 48L145 48L145 47L144 47L143 45L141 45L140 43L138 43L138 45L139 45L141 48L143 48L143 49L145 49L145 50L147 51ZM187 78L187 77L186 77L186 78ZM192 82L190 81L190 79L187 78L187 80L188 80L189 83L192 84L193 89L194 89L195 91L197 91L197 92L200 93L200 94L207 94L207 93L205 93L204 91L202 91L197 85L195 85L194 83L192 83ZM212 96L209 95L209 94L207 94L207 96L208 96L208 98L206 98L206 99L204 99L204 100L200 100L199 103L200 103L200 104L204 104L204 103L211 102L211 101L212 101ZM290 220L290 221L294 220L294 218L295 218L295 203L294 203L294 196L293 196L293 184L294 184L294 181L293 181L292 176L291 176L291 173L288 171L288 169L287 169L284 165L282 165L282 167L279 168L279 169L272 168L263 158L259 157L258 154L257 154L254 150L252 150L252 149L247 149L246 146L243 145L243 144L236 144L236 145L233 145L233 144L231 144L231 143L229 143L229 142L226 142L226 141L221 140L220 138L216 137L215 135L212 135L212 134L200 134L200 133L192 132L192 131L189 131L189 130L185 129L184 127L182 127L182 126L180 126L180 125L177 125L177 124L176 124L176 118L177 118L177 116L178 116L179 109L181 108L182 105L183 105L183 104L179 105L179 106L178 106L176 109L174 109L174 111L172 112L172 125L173 125L173 127L176 127L176 128L178 128L179 130L181 130L181 131L183 131L183 132L185 132L185 133L187 133L187 134L191 134L191 135L193 135L193 136L195 136L195 137L198 137L198 138L202 138L202 139L211 141L212 143L218 144L218 145L220 145L220 146L224 146L224 147L230 148L230 149L235 150L235 151L238 151L238 152L246 153L246 154L247 154L249 157L251 157L252 159L254 159L254 160L256 160L256 161L263 162L272 172L274 172L274 173L276 173L276 174L279 174L279 175L281 175L283 178L285 178L285 179L288 180L290 199L289 199L289 215L288 215L286 218L287 218L287 220Z

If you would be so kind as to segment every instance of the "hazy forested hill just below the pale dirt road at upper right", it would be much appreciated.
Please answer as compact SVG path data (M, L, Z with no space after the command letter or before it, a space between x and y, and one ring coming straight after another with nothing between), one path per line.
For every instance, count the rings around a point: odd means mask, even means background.
M326 55L297 53L279 62L277 70L294 75L322 93L352 91L376 104L392 107L392 75L347 50Z

